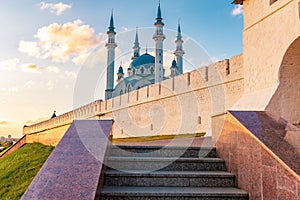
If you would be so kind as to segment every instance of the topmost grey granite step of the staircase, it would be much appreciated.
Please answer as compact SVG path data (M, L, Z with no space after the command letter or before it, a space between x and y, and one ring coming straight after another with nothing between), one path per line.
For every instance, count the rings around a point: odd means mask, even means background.
M158 146L115 146L109 150L110 156L119 157L193 157L215 158L216 148L213 147L158 147Z

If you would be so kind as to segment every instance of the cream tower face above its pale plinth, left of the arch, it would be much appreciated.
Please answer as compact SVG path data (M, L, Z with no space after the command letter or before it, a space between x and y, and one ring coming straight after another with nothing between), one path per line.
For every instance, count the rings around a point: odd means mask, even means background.
M278 83L282 59L292 42L300 36L298 0L244 1L245 28L243 31L245 92L247 98L263 97L261 105L249 109L265 109ZM263 90L261 93L257 91ZM269 92L266 90L270 90ZM256 93L255 93L256 92ZM264 95L265 96L265 95ZM259 102L259 101L257 101ZM243 102L245 109L248 102ZM242 103L241 103L242 104Z

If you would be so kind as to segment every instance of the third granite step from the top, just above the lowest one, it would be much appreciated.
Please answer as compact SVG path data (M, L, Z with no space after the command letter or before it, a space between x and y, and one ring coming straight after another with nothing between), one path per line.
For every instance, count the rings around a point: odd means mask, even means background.
M235 187L234 174L207 171L155 171L131 173L107 170L106 186L149 187Z

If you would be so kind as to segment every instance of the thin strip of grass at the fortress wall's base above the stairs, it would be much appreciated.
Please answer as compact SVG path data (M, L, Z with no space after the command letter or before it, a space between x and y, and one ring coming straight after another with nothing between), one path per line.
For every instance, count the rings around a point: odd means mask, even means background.
M112 142L146 142L154 140L171 140L179 138L194 138L194 137L203 137L205 133L187 133L179 135L160 135L160 136L149 136L149 137L131 137L131 138L113 138Z

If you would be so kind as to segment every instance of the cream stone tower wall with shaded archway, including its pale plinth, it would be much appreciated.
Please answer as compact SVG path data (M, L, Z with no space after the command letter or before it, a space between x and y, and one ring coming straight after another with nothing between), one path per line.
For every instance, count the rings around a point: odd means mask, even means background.
M269 110L299 123L300 49L292 47L299 46L299 0L244 0L244 27L244 95L232 109Z

